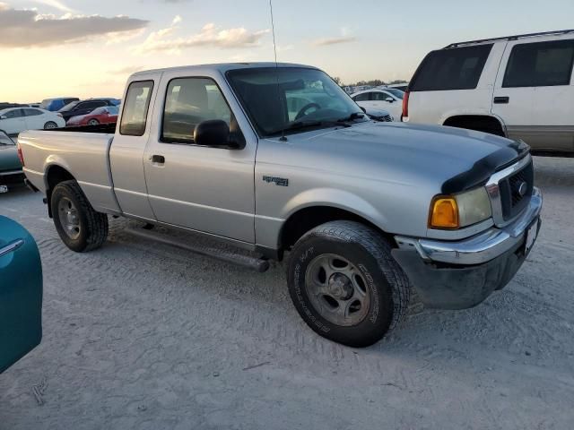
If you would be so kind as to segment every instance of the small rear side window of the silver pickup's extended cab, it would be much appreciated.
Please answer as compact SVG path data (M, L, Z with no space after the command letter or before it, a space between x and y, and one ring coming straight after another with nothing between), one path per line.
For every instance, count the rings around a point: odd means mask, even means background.
M143 136L152 99L153 81L132 82L127 89L119 133L125 136Z

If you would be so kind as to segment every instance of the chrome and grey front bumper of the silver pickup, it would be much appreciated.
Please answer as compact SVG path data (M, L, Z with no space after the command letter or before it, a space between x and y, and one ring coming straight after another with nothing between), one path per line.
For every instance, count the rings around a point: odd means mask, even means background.
M424 305L473 307L504 288L525 261L532 249L526 249L526 232L535 230L537 236L542 204L542 194L535 188L525 211L508 226L457 242L396 236L399 247L393 256Z

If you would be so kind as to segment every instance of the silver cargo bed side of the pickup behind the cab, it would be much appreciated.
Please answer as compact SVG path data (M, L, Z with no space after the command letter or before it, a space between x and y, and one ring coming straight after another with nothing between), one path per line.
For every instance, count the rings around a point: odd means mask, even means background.
M109 166L114 130L115 125L89 125L21 133L18 144L24 173L32 185L46 193L50 173L64 169L74 176L94 209L119 211Z

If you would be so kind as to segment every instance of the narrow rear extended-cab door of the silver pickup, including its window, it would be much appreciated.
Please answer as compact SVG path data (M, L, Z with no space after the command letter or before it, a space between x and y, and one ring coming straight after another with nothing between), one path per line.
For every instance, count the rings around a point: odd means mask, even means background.
M109 150L109 165L114 192L121 210L127 215L154 220L147 198L143 173L143 152L150 136L150 105L157 93L159 74L143 74L129 82L119 126Z

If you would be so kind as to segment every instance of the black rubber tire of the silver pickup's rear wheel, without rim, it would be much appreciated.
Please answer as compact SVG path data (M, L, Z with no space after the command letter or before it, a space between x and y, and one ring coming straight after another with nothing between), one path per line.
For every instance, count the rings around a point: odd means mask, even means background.
M77 208L78 236L70 237L65 232L60 219L58 206L62 200L72 202ZM108 237L108 215L94 211L75 181L59 183L52 192L50 207L57 233L65 245L76 253L84 253L99 248Z

